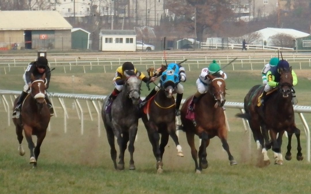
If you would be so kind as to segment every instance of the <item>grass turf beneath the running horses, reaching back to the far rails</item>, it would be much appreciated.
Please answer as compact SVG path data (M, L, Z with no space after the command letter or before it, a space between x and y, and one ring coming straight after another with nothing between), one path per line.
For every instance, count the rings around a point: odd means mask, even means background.
M139 70L145 71L143 68ZM197 68L186 70L187 81L183 83L184 98L196 91L195 80L200 73L200 69ZM243 102L248 89L261 83L260 70L261 68L254 71L225 69L228 75L226 100ZM103 71L102 67L94 67L92 70L86 69L84 74L82 67L75 67L71 71L66 69L65 74L62 68L56 68L52 73L49 92L106 95L113 89L114 70L107 70L106 74ZM2 73L1 69L0 89L21 91L23 69L11 68L6 75ZM302 71L296 73L298 84L295 90L299 105L310 106L310 80L302 74L299 75L303 73ZM75 76L74 84L71 83L72 75ZM66 78L67 82L65 82ZM149 91L144 84L142 89L142 97L145 97ZM202 174L195 174L185 133L180 131L179 142L185 157L176 156L177 151L170 138L163 157L164 172L156 174L156 160L146 129L141 122L135 142L136 170L128 170L128 151L125 152L125 170L114 170L102 121L101 136L98 137L95 111L92 110L93 122L85 112L84 135L81 135L81 122L76 110L70 108L72 100L65 101L69 114L67 133L64 133L63 111L55 99L58 117L51 119L51 131L48 131L41 146L36 169L32 169L29 164L26 139L22 142L26 154L18 155L15 128L12 122L11 126L7 126L7 113L1 102L0 193L309 193L310 191L311 165L307 162L306 136L298 115L295 116L296 124L302 134L302 153L305 157L303 161L295 159L297 143L296 138L293 137L291 161L284 159L282 166L271 164L265 168L257 167L258 153L252 134L248 131L244 132L241 119L234 117L239 110L227 109L230 124L228 144L238 165L229 165L228 156L222 149L219 138L216 137L211 139L207 147L209 167L203 169ZM304 116L307 121L311 120L309 114ZM285 155L286 145L287 138L283 138L283 155ZM196 138L196 146L198 149L198 138ZM269 151L268 155L273 163L272 152Z

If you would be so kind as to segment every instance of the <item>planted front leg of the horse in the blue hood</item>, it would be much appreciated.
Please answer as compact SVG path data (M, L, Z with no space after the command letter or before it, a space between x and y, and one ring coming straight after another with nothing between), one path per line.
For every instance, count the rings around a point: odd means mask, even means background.
M158 133L158 127L153 123L149 123L147 126L147 133L148 133L149 141L152 145L153 155L156 157L157 172L162 173L163 162L162 162L161 152L159 148L160 135Z

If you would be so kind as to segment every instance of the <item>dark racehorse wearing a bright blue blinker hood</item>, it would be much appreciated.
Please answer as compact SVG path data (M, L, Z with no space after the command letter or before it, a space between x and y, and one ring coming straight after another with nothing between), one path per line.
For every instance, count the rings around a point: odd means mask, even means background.
M162 69L165 68L162 65ZM157 173L163 171L163 154L169 136L173 139L177 156L183 157L182 147L179 145L175 126L175 100L173 98L178 74L172 69L166 69L160 77L160 89L156 95L147 102L142 113L142 121L145 124L153 154L156 157ZM159 145L160 135L161 143Z

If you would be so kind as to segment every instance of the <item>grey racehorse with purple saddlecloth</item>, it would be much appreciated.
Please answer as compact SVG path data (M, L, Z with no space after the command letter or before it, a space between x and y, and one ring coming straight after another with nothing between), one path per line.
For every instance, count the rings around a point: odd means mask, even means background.
M118 94L111 106L111 113L106 113L105 107L108 97L102 106L102 119L110 145L110 155L114 168L124 169L124 152L128 145L130 153L129 169L134 170L134 141L137 133L138 119L140 117L137 105L140 101L140 87L142 80L137 75L128 76L123 84L123 90ZM109 115L111 114L111 115ZM114 136L119 146L119 162L116 163L117 151L114 146Z

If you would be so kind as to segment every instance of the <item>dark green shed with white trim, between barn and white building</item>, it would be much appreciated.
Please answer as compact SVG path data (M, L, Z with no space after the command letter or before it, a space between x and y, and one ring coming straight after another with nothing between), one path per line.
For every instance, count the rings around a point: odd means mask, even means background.
M73 28L71 30L71 48L89 49L90 34L90 32L82 28Z

